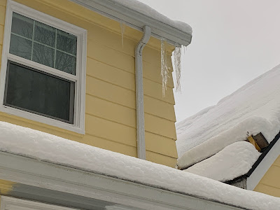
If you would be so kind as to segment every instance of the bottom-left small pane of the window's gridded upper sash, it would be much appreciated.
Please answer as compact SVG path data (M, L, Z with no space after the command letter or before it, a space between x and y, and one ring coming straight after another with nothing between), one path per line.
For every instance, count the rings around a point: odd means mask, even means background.
M31 59L32 41L19 36L10 35L10 53L20 57Z

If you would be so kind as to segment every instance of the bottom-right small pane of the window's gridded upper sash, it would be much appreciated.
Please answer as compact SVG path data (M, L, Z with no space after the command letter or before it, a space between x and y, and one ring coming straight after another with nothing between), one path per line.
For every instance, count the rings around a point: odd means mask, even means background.
M76 57L68 55L64 52L57 51L55 60L55 69L59 69L66 73L76 74Z

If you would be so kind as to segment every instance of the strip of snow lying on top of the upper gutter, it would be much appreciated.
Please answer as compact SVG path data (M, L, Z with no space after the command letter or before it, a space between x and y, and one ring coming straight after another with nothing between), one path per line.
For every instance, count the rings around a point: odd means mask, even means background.
M147 6L145 3L142 3L140 1L137 0L112 0L112 1L115 1L116 3L120 3L123 6L126 6L127 8L135 10L138 13L146 15L160 22L163 22L167 25L170 25L188 34L193 33L193 29L192 27L190 27L190 25L186 24L185 22L170 20L165 15L160 14L157 10L154 10L150 6Z

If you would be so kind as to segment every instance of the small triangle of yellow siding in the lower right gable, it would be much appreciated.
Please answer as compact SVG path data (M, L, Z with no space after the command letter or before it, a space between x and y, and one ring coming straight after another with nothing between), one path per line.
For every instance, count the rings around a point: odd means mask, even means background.
M280 155L262 177L255 191L280 197Z

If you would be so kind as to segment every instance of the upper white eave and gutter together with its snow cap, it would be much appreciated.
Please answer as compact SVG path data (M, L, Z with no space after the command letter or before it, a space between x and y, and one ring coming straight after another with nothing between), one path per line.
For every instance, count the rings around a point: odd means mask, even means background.
M151 27L151 35L165 38L173 45L188 45L192 38L190 25L170 20L153 8L136 0L71 0L108 18L124 22L143 31L145 25Z

